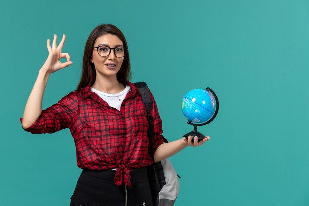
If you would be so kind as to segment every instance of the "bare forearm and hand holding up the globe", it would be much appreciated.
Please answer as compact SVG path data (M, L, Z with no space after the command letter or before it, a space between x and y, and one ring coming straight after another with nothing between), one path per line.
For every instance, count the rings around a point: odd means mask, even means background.
M204 142L208 141L210 137L207 136L200 142L198 142L197 137L194 137L194 143L191 142L191 139L192 137L189 136L188 140L184 137L179 140L161 144L154 153L154 162L159 162L163 159L173 156L182 149L186 148L188 145L193 147L201 146Z

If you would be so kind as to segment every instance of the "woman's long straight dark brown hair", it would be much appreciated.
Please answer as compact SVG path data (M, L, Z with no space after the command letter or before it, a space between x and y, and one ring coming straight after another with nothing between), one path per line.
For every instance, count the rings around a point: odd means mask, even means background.
M94 64L90 61L92 57L92 51L94 42L98 37L104 34L117 35L119 39L123 42L123 46L126 48L125 56L123 57L123 63L119 72L117 73L117 79L120 80L130 80L131 79L131 65L129 58L128 45L125 40L123 33L116 26L112 24L101 24L94 28L90 33L88 40L85 45L83 62L82 62L82 75L77 86L77 89L86 87L88 84L94 84L96 78L96 72Z

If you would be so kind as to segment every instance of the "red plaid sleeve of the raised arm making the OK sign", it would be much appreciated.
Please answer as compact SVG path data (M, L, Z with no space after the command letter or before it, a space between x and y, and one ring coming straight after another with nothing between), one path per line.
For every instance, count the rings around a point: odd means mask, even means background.
M74 120L77 104L77 98L71 92L56 104L42 110L37 120L24 130L32 134L45 134L68 128ZM23 118L20 118L20 122L23 122Z

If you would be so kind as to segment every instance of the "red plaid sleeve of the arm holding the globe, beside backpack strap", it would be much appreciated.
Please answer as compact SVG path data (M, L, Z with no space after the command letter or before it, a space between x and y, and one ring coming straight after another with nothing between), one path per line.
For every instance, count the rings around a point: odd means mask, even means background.
M150 92L150 91L149 91ZM154 100L153 94L150 92L151 100L152 100L152 109L151 109L151 116L153 118L153 130L154 130L154 137L152 139L152 146L154 149L154 153L157 150L157 148L164 143L164 137L162 135L162 120L159 115L159 111L156 105L156 102Z

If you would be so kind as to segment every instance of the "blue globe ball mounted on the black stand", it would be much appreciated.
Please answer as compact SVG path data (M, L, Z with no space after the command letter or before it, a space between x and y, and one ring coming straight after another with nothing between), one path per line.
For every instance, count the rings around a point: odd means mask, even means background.
M216 110L216 101L210 91L193 89L185 94L181 108L191 122L204 123L213 116Z

